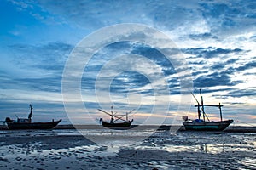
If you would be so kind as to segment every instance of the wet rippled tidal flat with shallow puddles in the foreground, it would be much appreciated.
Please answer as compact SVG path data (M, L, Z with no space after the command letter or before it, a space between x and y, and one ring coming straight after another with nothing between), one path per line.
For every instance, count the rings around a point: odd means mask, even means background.
M81 132L84 132L81 134ZM83 128L0 131L0 169L253 169L256 133ZM107 138L108 137L108 138ZM104 140L96 143L96 139Z

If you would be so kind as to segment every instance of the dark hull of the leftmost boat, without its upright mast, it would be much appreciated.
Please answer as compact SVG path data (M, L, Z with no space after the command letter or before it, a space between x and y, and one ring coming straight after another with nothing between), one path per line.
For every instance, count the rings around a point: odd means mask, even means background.
M54 128L61 122L7 122L9 130L21 130L21 129L50 129Z

